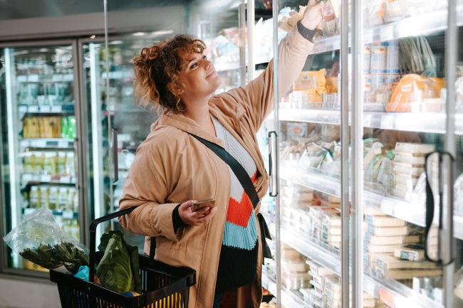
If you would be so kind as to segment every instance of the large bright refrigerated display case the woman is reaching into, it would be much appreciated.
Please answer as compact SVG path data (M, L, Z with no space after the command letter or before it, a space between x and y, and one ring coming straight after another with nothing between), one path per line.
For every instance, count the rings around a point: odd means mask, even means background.
M426 261L423 245L425 154L454 156L454 165L430 166L441 172L444 199L446 187L454 196L461 189L462 114L449 109L459 83L449 74L461 72L462 2L337 2L328 1L335 18L325 6L303 73L276 102L278 196L269 216L279 253L264 286L279 293L279 307L461 307L458 198L453 213L442 210L439 240L430 239L444 260L454 249L453 262ZM281 28L296 23L298 5L306 4L289 4ZM274 1L279 14L285 6Z

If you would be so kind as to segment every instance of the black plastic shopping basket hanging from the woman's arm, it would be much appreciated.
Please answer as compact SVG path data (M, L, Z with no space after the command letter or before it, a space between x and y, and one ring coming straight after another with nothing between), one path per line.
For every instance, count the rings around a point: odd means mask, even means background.
M63 308L187 308L189 287L196 283L196 272L189 267L173 267L139 255L142 294L129 297L93 283L95 272L95 230L103 221L131 213L134 208L111 213L90 224L90 282L56 270L50 280L58 285ZM153 252L154 255L154 252Z

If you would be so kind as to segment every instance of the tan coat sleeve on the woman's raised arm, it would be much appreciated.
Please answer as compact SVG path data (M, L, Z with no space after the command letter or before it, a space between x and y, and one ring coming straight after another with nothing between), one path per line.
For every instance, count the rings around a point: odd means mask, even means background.
M301 36L296 26L279 43L279 98L285 95L301 73L312 48L313 43ZM215 95L211 102L226 114L231 113L227 111L236 110L236 105L243 107L251 129L256 133L274 109L274 60L269 62L259 77L247 85Z

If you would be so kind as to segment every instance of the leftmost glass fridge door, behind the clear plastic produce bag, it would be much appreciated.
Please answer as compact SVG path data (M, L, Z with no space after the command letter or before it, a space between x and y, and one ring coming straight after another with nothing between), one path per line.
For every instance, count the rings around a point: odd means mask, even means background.
M46 207L82 240L76 52L73 41L0 48L3 235ZM4 251L6 269L43 270Z

